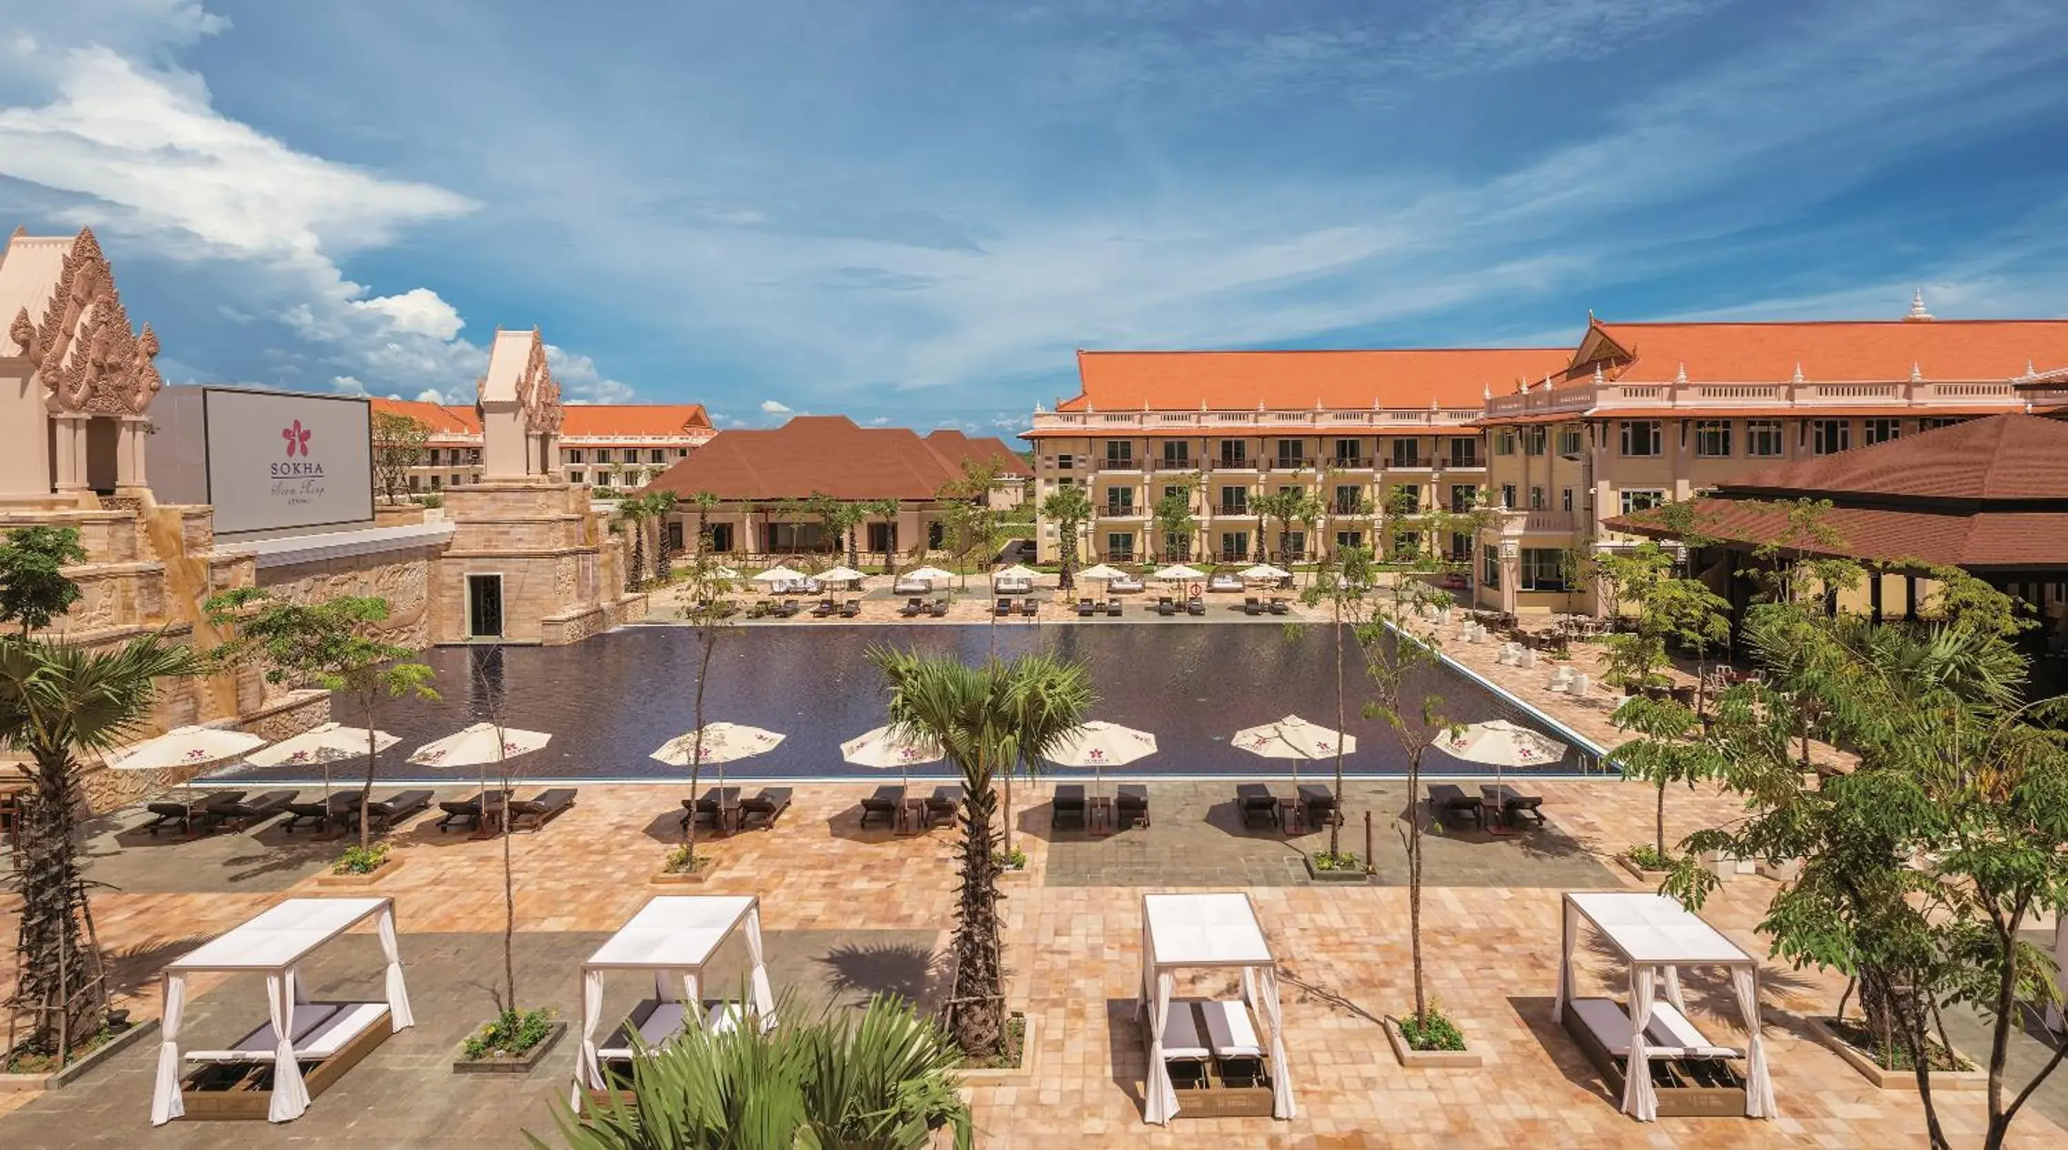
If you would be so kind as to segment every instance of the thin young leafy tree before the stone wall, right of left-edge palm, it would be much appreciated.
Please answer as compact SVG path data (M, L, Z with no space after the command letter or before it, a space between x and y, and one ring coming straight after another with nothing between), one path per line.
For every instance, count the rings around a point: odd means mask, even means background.
M360 788L360 848L368 848L372 831L366 805L372 800L378 755L372 732L381 728L381 707L389 699L438 697L430 687L430 666L405 662L416 647L381 637L389 602L381 596L341 596L304 604L261 587L238 587L213 596L205 606L209 621L232 633L213 652L215 658L256 664L267 683L323 687L352 705L358 726L368 732L366 784Z

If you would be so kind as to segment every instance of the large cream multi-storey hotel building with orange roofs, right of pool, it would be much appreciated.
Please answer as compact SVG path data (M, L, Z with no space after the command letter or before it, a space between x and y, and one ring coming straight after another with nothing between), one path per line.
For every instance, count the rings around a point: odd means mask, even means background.
M1975 416L2058 412L2068 321L1936 323L1917 298L1869 323L1590 316L1565 350L1082 352L1077 368L1082 393L1036 410L1026 438L1036 498L1092 496L1079 554L1251 561L1251 501L1295 486L1330 511L1284 548L1313 558L1381 542L1394 488L1456 511L1483 490L1503 515L1435 542L1468 563L1474 602L1601 610L1592 579L1568 592L1565 556L1636 544L1607 519ZM1156 540L1152 507L1179 476L1199 527ZM1038 540L1053 561L1055 523Z

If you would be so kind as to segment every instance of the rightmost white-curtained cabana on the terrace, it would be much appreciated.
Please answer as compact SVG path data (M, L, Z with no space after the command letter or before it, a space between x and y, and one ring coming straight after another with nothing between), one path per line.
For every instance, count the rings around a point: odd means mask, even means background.
M1582 918L1594 925L1630 970L1628 1013L1613 999L1582 999L1574 993L1572 958ZM1681 966L1723 966L1731 972L1731 993L1747 1034L1743 1051L1710 1042L1687 1018ZM1609 1080L1609 1088L1621 1090L1623 1113L1638 1121L1659 1115L1735 1115L1739 1094L1745 1117L1776 1117L1766 1040L1760 1036L1760 962L1669 898L1568 894L1551 1009ZM1743 1071L1735 1067L1737 1059L1743 1059ZM1652 1084L1654 1061L1669 1065L1673 1088ZM1683 1076L1675 1067L1692 1073Z

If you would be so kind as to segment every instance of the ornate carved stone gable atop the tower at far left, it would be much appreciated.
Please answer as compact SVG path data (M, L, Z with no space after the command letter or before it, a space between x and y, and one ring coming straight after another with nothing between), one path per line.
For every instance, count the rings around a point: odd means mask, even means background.
M153 364L157 335L149 323L141 333L130 331L91 228L81 228L64 254L43 321L33 323L29 308L21 308L8 337L35 364L43 405L56 416L141 416L165 385Z

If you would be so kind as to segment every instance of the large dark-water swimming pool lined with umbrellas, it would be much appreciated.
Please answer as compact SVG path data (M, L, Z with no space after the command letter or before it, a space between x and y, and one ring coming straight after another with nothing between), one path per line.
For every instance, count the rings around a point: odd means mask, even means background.
M734 778L875 780L883 774L840 759L840 743L883 724L883 680L866 662L871 645L889 643L920 652L982 660L997 643L1001 658L1053 647L1079 658L1092 672L1098 703L1090 718L1113 720L1156 734L1158 753L1129 765L1123 776L1288 776L1292 763L1259 759L1228 745L1228 736L1299 714L1336 724L1334 645L1328 625L1257 627L1220 623L1127 625L842 625L732 629L718 645L705 689L705 720L744 722L786 734L767 755L730 763ZM519 761L527 780L660 780L680 778L680 767L647 755L693 726L693 674L699 639L687 627L625 627L571 647L438 647L426 652L438 678L438 701L395 701L381 720L401 743L381 757L387 782L463 784L469 771L434 771L405 763L412 749L490 718L492 699L505 699L509 726L544 730L554 738ZM1363 658L1344 654L1348 685L1346 728L1359 751L1346 774L1386 778L1406 774L1394 734L1359 716L1371 697ZM1578 736L1547 716L1474 683L1450 666L1417 672L1410 697L1435 693L1456 722L1508 718L1543 730L1574 749L1557 765L1508 774L1582 774L1592 755ZM1415 707L1419 709L1419 705ZM339 709L339 722L354 716ZM349 771L352 767L343 767ZM716 769L716 767L713 767ZM1303 763L1301 774L1330 771L1332 763ZM1493 774L1439 753L1423 759L1429 774ZM945 776L945 763L914 769ZM1069 774L1069 771L1059 771ZM1086 771L1088 774L1088 771ZM308 767L236 769L217 778L310 782ZM321 778L321 776L314 776Z

